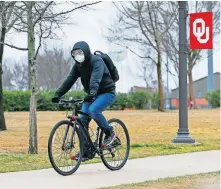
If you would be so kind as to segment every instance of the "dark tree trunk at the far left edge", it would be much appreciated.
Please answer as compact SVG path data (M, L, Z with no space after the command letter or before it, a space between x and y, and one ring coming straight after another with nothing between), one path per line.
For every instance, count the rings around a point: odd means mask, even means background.
M4 2L1 2L0 4L1 6L1 25L2 25L2 29L1 29L1 42L4 43L5 41L5 33L6 33L6 28L5 28L5 19L6 19L6 12L4 10ZM5 116L4 116L4 108L3 108L3 104L4 104L4 99L3 99L3 84L2 84L2 60L3 60L3 53L4 53L4 44L0 44L0 131L3 130L7 130L6 128L6 124L5 124Z

